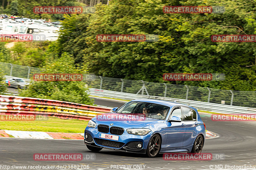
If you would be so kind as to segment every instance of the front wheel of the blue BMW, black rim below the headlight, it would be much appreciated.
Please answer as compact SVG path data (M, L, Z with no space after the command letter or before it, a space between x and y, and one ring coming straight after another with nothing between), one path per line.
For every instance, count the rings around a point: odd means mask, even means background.
M154 158L158 155L161 149L161 138L158 134L155 134L151 137L148 142L148 147L146 151L146 155L148 158Z

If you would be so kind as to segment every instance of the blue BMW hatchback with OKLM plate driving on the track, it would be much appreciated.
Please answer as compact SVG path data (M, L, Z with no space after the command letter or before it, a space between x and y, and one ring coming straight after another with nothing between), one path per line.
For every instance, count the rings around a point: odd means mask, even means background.
M137 99L93 117L84 130L84 144L94 152L113 149L143 153L200 154L205 124L194 107L153 99Z

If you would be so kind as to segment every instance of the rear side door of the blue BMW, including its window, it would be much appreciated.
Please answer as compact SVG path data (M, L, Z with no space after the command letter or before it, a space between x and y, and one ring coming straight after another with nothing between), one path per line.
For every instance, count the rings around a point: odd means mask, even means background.
M197 135L198 122L196 117L196 111L182 106L183 123L185 124L186 133L184 133L183 147L187 147L193 144Z

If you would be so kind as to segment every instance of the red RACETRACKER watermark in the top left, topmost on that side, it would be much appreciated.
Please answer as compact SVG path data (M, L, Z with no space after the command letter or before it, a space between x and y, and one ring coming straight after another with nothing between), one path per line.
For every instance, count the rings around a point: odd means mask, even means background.
M81 14L82 6L35 6L35 14Z

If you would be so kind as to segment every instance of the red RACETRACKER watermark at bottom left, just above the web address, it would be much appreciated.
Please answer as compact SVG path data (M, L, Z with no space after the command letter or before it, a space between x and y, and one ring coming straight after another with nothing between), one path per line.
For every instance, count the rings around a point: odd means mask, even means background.
M49 160L57 160L57 161L69 161L69 160L83 160L82 153L35 153L33 155L34 160L41 161L49 161Z

